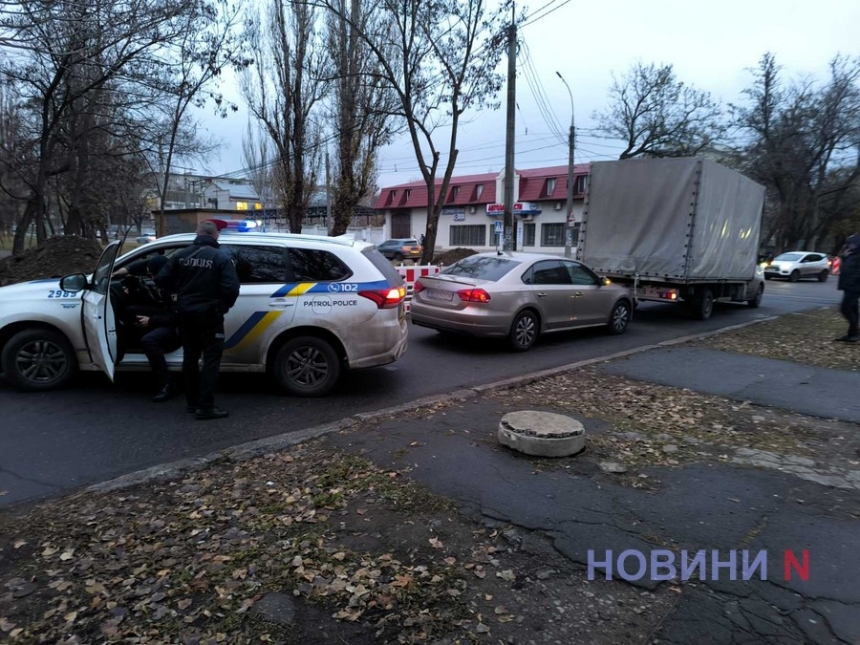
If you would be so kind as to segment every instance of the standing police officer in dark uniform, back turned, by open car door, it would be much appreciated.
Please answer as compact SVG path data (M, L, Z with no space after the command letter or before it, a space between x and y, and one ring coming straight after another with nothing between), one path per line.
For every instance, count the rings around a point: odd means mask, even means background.
M198 419L228 414L215 407L215 386L224 351L224 314L239 297L239 278L230 256L219 248L221 228L216 222L201 222L194 243L174 253L156 278L159 286L176 294L187 409Z

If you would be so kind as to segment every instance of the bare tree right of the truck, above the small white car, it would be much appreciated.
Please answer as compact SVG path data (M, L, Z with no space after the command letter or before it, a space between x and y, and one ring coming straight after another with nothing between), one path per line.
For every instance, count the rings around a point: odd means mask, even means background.
M732 106L746 134L744 170L768 189L765 239L778 249L824 244L852 213L860 179L860 59L837 56L823 84L784 82L773 54L765 54Z

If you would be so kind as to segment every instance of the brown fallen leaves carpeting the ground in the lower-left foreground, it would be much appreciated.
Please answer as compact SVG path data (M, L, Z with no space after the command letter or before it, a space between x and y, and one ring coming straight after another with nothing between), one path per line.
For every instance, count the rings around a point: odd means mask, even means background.
M0 568L0 640L283 642L249 614L285 590L379 642L474 633L462 596L476 566L499 565L483 559L492 547L476 547L479 565L428 529L425 554L343 548L338 525L380 507L452 510L398 472L316 445L5 517L0 544L14 557Z

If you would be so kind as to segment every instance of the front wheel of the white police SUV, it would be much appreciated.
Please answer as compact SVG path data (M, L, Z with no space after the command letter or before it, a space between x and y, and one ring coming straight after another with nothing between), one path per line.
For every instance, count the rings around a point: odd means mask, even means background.
M13 385L30 391L62 387L78 367L69 341L50 329L18 332L6 343L0 362Z

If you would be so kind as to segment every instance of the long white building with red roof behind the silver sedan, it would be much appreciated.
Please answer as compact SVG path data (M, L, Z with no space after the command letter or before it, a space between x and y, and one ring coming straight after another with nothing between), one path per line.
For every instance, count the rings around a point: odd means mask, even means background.
M563 253L567 223L568 167L517 170L514 174L514 219L517 249ZM579 236L589 166L574 167L573 243ZM436 246L441 249L496 248L496 222L504 220L505 173L452 177L439 218ZM436 180L436 196L442 185ZM391 238L419 238L427 226L427 186L415 181L383 188L374 204L386 216Z

